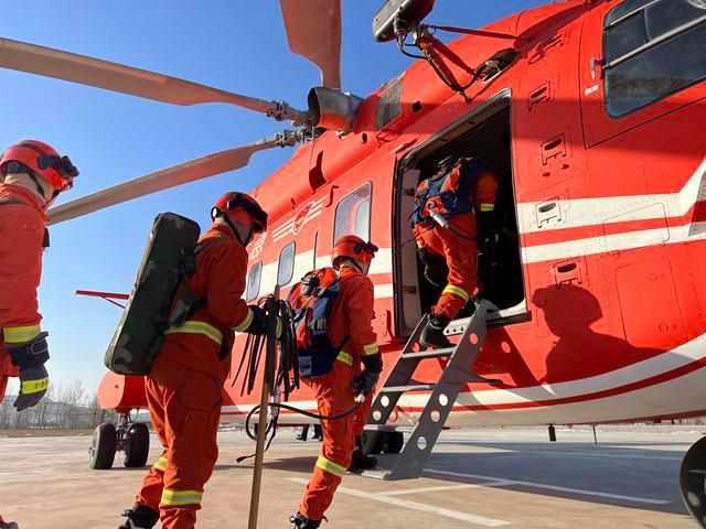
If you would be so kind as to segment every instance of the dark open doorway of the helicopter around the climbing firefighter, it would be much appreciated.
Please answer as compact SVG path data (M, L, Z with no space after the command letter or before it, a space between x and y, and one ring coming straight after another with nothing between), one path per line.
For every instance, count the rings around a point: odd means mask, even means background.
M493 238L491 245L483 242L482 233L478 233L477 267L468 270L469 274L477 274L483 285L479 298L494 305L488 323L491 326L507 325L531 317L522 274L510 116L510 93L503 90L409 152L399 163L394 209L394 247L398 250L393 252L393 263L395 319L400 336L414 331L421 315L431 310L448 284L448 267L442 264L446 262L443 258L437 261L435 272L438 273L434 274L432 283L429 280L431 276L425 274L426 263L417 255L411 226L415 192L424 180L439 174L440 168L453 166L461 159L475 159L475 166L480 164L481 171L493 173L498 180L493 210L499 237ZM454 327L462 326L471 314L471 306L467 305L456 316Z

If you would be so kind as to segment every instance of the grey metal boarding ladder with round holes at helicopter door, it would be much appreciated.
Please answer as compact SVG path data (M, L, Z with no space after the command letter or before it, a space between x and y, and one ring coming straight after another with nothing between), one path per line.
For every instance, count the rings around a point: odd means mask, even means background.
M415 332L373 401L368 423L365 427L365 453L371 453L381 432L397 430L396 425L387 424L387 420L404 393L431 391L429 400L400 453L384 456L385 462L387 457L394 457L394 464L389 468L378 467L364 471L362 472L364 476L387 481L419 477L443 424L449 418L461 387L468 382L499 382L499 380L483 378L470 370L485 341L485 315L491 306L488 301L481 300L458 344L449 348L424 350L425 347L419 344L419 336L429 315L425 315L417 324ZM449 332L452 332L452 328L447 330L447 333ZM413 379L419 363L430 358L447 358L439 380L437 382L420 382Z

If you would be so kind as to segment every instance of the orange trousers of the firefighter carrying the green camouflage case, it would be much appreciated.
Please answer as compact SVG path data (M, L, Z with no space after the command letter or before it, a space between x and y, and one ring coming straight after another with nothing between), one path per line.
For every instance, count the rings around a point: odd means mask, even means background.
M165 343L165 347L178 347ZM137 503L159 510L164 529L192 529L218 456L221 380L159 355L147 377L147 401L164 452L142 481Z

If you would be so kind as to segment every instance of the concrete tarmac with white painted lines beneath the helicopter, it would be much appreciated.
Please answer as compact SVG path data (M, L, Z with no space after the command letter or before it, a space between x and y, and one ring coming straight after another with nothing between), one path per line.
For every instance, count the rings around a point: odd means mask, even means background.
M381 482L346 475L323 529L695 529L678 490L692 431L471 429L443 432L424 477ZM311 431L310 431L311 433ZM266 454L259 525L290 528L319 443L284 429ZM115 529L146 468L88 468L89 436L0 439L0 512L20 529ZM201 529L247 527L254 443L220 434L221 455L199 514ZM150 462L159 456L152 438Z

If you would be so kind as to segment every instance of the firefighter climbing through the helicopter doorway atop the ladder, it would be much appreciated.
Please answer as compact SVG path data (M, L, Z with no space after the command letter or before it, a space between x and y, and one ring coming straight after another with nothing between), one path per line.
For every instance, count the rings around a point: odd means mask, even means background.
M496 193L498 176L484 171L478 158L441 162L417 187L411 224L425 276L438 287L447 283L421 332L421 345L450 347L443 330L480 290L477 237L479 231L483 239L498 237Z

